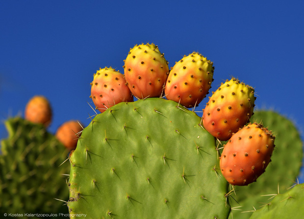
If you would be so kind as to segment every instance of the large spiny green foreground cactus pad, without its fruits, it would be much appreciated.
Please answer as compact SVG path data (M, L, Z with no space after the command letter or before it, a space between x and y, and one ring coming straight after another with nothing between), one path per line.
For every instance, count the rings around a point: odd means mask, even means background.
M72 218L227 218L215 138L200 123L161 98L97 115L70 156Z

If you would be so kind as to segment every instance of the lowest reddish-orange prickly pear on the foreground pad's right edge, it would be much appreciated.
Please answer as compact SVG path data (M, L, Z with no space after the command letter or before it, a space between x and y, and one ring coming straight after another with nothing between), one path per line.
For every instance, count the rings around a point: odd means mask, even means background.
M257 123L235 133L224 146L220 160L226 180L238 186L254 182L271 161L274 141L271 131Z

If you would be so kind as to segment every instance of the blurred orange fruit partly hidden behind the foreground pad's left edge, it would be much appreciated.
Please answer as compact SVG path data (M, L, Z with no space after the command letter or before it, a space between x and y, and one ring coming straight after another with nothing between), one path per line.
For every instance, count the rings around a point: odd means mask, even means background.
M66 148L75 150L82 129L82 125L79 122L71 120L60 125L55 136Z

